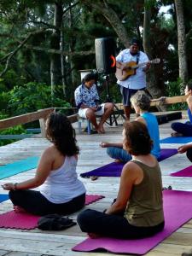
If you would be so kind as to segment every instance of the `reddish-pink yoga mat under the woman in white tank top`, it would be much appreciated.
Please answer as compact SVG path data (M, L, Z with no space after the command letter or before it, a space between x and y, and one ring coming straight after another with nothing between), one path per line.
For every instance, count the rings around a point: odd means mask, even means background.
M85 205L102 199L103 195L86 195ZM5 212L0 214L0 228L33 230L38 227L40 217L27 212Z

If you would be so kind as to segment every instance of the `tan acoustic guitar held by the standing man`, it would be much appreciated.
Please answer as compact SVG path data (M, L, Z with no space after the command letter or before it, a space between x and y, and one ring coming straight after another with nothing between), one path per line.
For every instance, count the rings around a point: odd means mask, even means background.
M116 67L115 76L120 81L123 81L129 78L130 76L135 75L138 67L143 67L148 63L158 64L160 63L160 59L154 59L152 61L147 61L139 64L137 64L136 61L119 62L119 63L120 63L120 66Z

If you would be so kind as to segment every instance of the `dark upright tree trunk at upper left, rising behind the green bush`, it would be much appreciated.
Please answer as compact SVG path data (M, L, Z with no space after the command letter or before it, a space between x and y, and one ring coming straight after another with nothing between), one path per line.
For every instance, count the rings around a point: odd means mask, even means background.
M62 4L55 3L54 26L61 27L62 25ZM50 48L60 49L61 32L54 29L50 38ZM55 85L61 84L61 56L50 55L50 81L51 81L51 96L54 98Z

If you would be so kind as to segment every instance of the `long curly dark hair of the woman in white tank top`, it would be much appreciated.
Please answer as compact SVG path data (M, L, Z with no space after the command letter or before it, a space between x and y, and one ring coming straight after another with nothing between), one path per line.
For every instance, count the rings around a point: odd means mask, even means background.
M47 120L46 137L63 155L79 154L75 130L63 113L50 113Z

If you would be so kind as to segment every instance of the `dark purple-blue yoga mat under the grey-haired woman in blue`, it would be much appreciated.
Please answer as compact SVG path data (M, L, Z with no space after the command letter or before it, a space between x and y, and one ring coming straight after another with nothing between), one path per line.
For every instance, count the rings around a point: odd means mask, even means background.
M162 148L160 150L160 157L158 161L165 160L168 157L171 157L173 154L177 154L176 148ZM90 177L90 176L97 176L97 177L120 177L121 171L125 163L110 163L106 166L102 166L92 170L90 172L81 173L81 177Z

